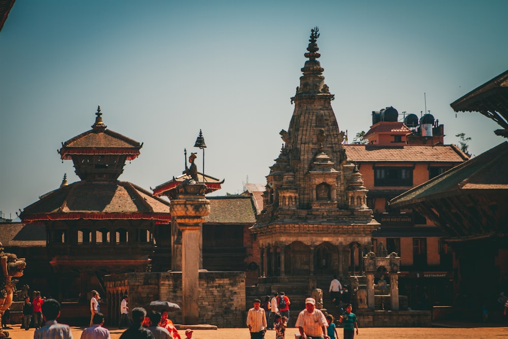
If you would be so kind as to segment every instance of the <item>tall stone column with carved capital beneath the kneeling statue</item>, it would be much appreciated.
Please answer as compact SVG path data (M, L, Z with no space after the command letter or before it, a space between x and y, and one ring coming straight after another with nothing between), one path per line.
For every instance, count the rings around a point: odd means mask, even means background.
M182 231L182 318L184 325L199 320L200 236L203 218L210 213L205 184L182 183L171 200L171 217Z

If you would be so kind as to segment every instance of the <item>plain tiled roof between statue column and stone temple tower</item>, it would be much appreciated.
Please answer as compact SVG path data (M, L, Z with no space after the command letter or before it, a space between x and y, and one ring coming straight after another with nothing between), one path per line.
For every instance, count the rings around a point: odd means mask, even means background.
M207 222L220 224L250 224L256 223L256 207L252 197L226 196L209 197L210 215Z

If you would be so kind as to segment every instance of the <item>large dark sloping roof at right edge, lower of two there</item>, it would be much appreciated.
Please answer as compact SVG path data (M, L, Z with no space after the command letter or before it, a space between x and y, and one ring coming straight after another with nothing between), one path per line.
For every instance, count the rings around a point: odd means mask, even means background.
M406 207L421 201L461 195L472 191L508 193L508 142L466 161L390 201L393 207Z

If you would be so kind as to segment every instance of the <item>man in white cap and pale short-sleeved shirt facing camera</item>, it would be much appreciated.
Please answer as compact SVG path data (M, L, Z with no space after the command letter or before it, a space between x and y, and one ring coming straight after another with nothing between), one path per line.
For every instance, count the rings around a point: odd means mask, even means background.
M329 338L326 331L328 322L323 312L315 308L315 304L314 298L305 299L305 310L298 315L296 327L300 330L302 339L308 337L312 339Z

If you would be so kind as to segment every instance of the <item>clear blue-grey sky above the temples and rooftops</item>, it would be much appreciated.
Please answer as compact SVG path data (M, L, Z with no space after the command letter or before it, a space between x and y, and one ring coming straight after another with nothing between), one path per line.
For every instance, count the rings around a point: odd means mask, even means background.
M473 155L503 142L498 126L450 103L508 69L506 0L18 0L0 32L0 210L15 218L79 180L56 150L90 129L143 142L120 180L149 190L184 168L203 130L216 195L264 183L288 129L310 29L339 128L350 141L388 106L426 107Z

